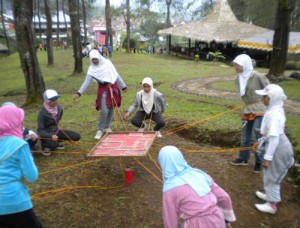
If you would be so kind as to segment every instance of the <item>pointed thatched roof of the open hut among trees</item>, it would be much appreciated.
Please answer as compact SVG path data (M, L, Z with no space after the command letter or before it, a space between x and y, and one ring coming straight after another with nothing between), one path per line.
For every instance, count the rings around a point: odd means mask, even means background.
M237 20L227 0L219 0L203 20L159 30L159 35L185 37L203 42L236 42L270 30Z

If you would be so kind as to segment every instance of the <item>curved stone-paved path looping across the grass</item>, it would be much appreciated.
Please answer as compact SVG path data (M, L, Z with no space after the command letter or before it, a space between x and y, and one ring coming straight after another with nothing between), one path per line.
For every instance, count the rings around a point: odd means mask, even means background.
M204 97L229 99L229 100L240 100L240 96L237 92L226 90L214 89L212 84L219 81L233 81L235 76L218 76L218 77L207 77L207 78L196 78L177 82L172 85L173 88L184 92L196 94ZM293 115L300 115L300 101L287 100L285 103L285 110Z

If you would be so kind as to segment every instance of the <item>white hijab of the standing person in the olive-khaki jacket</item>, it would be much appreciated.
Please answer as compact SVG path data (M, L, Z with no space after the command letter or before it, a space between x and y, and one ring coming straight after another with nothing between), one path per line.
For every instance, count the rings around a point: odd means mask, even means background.
M250 78L251 72L253 71L252 60L249 55L241 54L233 60L233 63L243 67L243 72L239 73L238 77L240 83L240 95L244 96L246 92L247 82Z

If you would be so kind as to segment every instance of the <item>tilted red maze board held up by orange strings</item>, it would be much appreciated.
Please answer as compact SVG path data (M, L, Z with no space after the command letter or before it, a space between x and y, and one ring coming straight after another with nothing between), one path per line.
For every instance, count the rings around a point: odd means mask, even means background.
M156 137L155 132L112 132L106 134L88 157L145 156Z

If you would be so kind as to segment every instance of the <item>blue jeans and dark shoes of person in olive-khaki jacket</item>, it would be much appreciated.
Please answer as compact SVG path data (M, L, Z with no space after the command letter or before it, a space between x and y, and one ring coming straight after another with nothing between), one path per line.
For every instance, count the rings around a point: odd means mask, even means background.
M254 120L243 122L241 147L250 147L261 138L260 126L262 119L262 116L257 116ZM250 158L250 150L241 150L239 157L248 161ZM262 155L257 152L255 152L255 163L262 163Z

